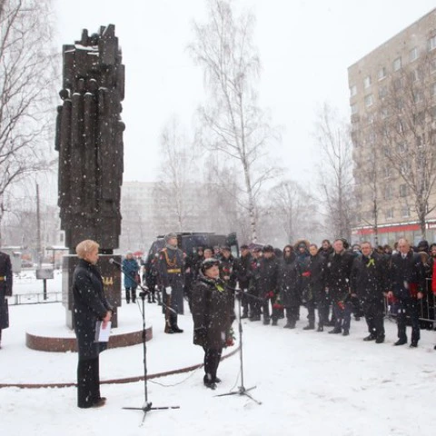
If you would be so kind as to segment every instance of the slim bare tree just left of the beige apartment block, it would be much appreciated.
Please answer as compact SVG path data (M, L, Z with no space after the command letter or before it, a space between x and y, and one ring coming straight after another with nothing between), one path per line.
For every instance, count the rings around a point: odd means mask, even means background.
M352 227L352 140L348 124L324 104L318 114L316 139L321 164L321 198L334 237L351 237Z

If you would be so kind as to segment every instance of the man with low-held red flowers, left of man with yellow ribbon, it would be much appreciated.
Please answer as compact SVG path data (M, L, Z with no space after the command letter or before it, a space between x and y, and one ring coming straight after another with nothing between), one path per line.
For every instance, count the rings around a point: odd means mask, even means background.
M350 275L354 258L352 253L345 250L342 239L334 241L333 250L334 252L327 257L323 271L324 289L332 299L336 319L334 329L329 333L342 332L343 336L348 336L352 318Z

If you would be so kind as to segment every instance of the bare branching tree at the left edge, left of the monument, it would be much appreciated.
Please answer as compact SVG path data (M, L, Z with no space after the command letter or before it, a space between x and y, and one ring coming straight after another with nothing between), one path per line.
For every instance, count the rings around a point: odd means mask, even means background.
M0 223L7 190L47 167L54 79L49 7L49 0L0 2Z

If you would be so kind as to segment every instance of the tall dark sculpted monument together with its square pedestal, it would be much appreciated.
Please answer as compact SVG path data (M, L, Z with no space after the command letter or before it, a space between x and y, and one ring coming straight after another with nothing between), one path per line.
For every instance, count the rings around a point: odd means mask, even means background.
M111 255L121 233L125 127L121 120L124 64L115 26L102 26L91 36L84 30L80 41L64 45L63 55L59 93L63 104L57 107L55 149L59 152L58 204L65 246L74 254L78 243L93 239L101 253ZM121 271L109 263L110 257L114 256L101 256L99 266L106 280L104 290L116 307L121 304ZM115 260L120 262L116 256ZM70 327L75 263L74 256L64 256L63 300Z

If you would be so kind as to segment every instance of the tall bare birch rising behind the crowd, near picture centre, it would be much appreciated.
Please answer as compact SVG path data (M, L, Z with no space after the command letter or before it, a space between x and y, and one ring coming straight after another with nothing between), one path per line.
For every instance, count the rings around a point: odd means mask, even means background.
M274 173L263 166L273 131L257 104L254 85L260 61L253 45L253 15L233 16L230 1L209 0L208 22L194 23L193 59L203 66L208 103L200 109L201 143L241 165L250 217L257 239L256 199ZM263 161L261 163L261 161Z

